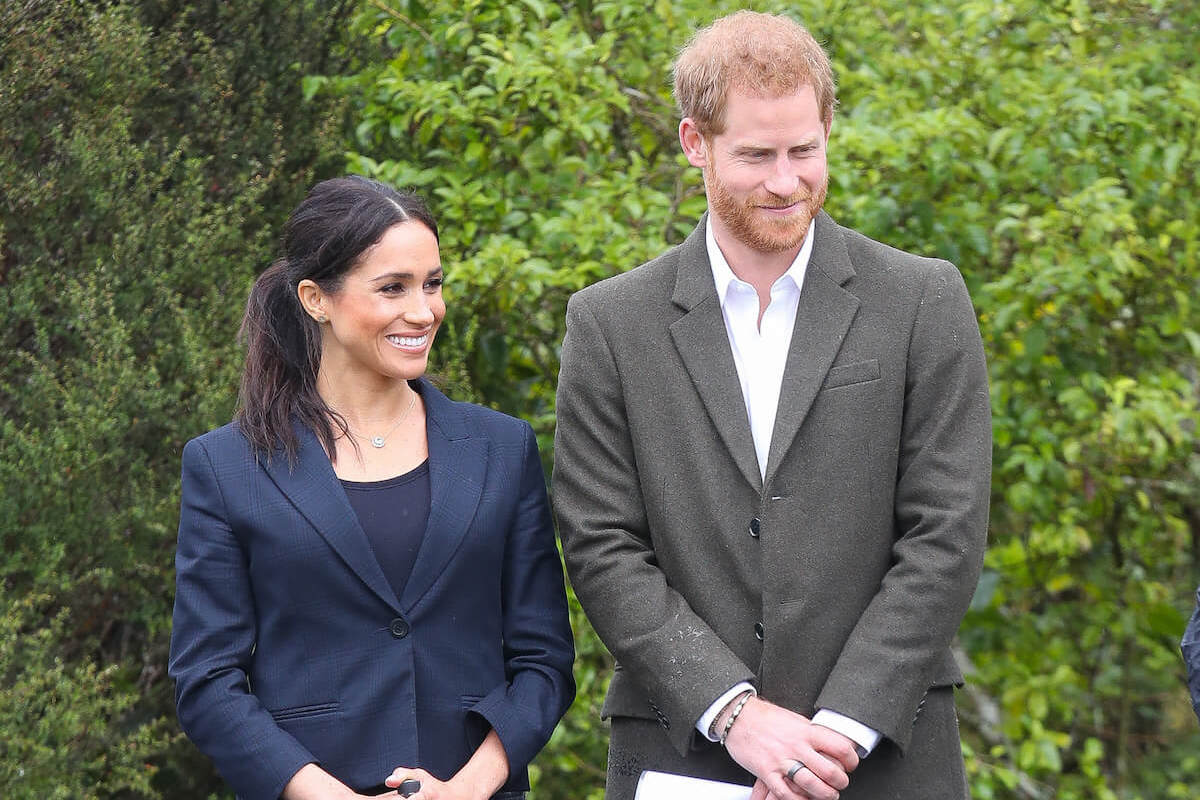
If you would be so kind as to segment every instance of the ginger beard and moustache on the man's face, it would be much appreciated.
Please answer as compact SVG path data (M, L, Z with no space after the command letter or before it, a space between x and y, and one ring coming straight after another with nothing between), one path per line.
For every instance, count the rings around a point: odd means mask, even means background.
M828 187L827 173L816 187L816 193L802 182L790 197L763 191L742 200L725 185L716 167L709 166L704 170L709 210L725 223L734 239L760 253L784 253L798 248L809 231L809 223L824 205ZM800 207L786 217L774 217L757 210L761 206L780 209L794 203L799 203Z

